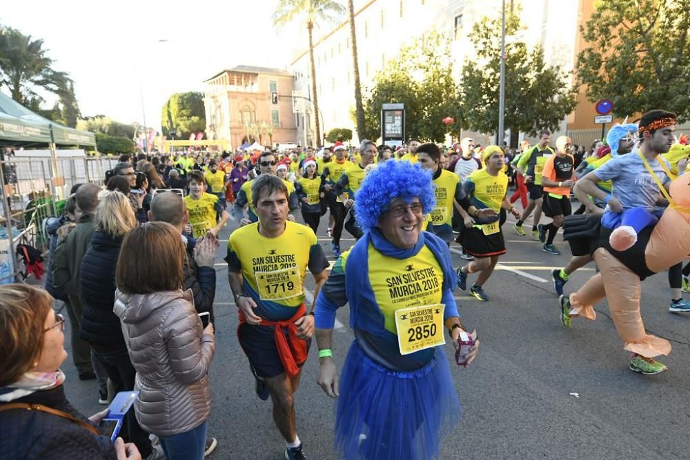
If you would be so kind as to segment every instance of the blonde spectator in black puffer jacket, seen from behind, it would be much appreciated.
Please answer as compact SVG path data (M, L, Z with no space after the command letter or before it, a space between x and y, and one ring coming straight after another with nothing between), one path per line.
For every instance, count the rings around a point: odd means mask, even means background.
M115 394L134 390L135 374L120 319L112 312L115 304L115 266L124 235L135 228L130 201L121 192L102 190L98 194L96 231L91 246L81 259L81 328L79 336L91 346L93 357L101 363ZM101 394L108 399L108 393ZM137 445L143 457L152 453L148 433L137 423L134 411L128 412L121 433L126 441ZM162 453L162 452L161 452Z

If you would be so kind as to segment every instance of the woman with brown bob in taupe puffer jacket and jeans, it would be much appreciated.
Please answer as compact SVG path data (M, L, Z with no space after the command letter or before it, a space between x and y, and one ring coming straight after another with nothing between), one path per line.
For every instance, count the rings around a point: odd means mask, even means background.
M169 223L131 230L117 261L114 310L137 370L139 425L159 437L166 457L202 460L215 339L212 323L201 326L191 292L181 290L185 257Z

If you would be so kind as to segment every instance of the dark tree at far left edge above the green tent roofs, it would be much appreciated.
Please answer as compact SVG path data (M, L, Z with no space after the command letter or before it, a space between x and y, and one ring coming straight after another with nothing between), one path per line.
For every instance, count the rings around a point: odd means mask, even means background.
M38 88L58 96L63 92L73 96L68 74L54 70L52 64L43 40L13 28L0 28L0 87L6 86L12 99L21 104L31 99L42 100L36 92ZM73 102L76 105L76 100ZM71 116L70 112L70 120Z

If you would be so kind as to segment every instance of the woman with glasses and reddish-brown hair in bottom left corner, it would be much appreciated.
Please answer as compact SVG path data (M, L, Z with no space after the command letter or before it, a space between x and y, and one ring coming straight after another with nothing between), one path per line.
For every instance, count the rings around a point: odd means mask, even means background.
M65 396L65 318L52 297L26 284L0 286L0 452L14 459L140 460L134 444L110 443ZM8 458L10 458L8 457Z

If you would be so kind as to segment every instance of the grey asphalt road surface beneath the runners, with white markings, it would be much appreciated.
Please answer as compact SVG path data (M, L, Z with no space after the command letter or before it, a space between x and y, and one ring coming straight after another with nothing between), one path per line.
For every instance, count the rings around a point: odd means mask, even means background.
M324 217L319 241L333 260L327 222ZM503 228L508 252L484 286L490 301L455 292L462 321L476 328L481 348L472 366L464 369L455 365L446 345L464 416L442 442L441 458L690 458L690 316L668 312L666 274L642 283L647 330L673 344L673 352L661 359L669 371L646 377L628 369L628 353L605 303L597 306L596 321L577 319L571 329L561 325L550 275L551 268L569 259L560 236L556 246L563 254L556 256L542 252L529 235L517 236L511 227L509 221ZM222 261L233 228L230 222L221 232L224 241L217 251L217 347L210 370L213 410L208 434L218 439L218 447L210 458L278 460L284 442L273 425L270 401L255 395L235 334L237 309ZM346 232L344 237L351 238ZM344 239L342 248L353 243ZM453 248L457 250L455 243ZM457 252L453 260L455 266L462 261ZM573 274L566 292L582 286L593 273L590 265ZM310 275L307 279L306 287L313 288ZM473 279L471 275L469 282ZM348 309L340 309L337 317L347 325ZM333 350L339 366L352 340L347 326L336 328ZM297 433L309 459L336 459L334 404L316 384L315 350L313 344L295 397ZM79 381L71 361L63 368L70 401L85 414L100 410L95 381Z

